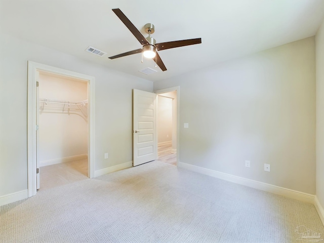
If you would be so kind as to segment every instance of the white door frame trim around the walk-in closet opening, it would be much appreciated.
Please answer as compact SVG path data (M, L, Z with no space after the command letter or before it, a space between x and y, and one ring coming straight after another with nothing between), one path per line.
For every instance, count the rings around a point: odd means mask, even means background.
M28 197L36 194L36 71L47 71L88 81L89 178L95 176L95 77L28 61L27 77L27 182Z

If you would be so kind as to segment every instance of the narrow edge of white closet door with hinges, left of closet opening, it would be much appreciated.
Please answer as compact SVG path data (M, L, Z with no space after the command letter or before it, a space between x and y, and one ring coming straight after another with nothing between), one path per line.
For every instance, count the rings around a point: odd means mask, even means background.
M36 71L36 189L39 189L39 71Z

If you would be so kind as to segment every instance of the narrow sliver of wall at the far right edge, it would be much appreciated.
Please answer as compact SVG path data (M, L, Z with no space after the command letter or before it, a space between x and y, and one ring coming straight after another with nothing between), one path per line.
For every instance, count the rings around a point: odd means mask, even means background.
M316 33L316 195L324 207L324 21Z

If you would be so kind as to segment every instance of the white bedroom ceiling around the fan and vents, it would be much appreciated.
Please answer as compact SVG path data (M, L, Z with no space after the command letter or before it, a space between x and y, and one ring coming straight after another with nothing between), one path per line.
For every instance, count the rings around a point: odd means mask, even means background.
M108 59L141 48L113 8L144 36L153 23L157 43L201 37L202 44L160 51L168 70L145 75L139 70L155 63L141 63L141 54ZM323 14L324 0L2 0L1 32L155 81L312 36Z

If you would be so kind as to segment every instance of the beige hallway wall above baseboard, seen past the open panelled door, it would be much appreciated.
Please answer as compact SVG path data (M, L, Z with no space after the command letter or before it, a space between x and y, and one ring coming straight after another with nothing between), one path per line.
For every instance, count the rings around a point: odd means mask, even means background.
M157 142L172 143L172 99L158 95Z

